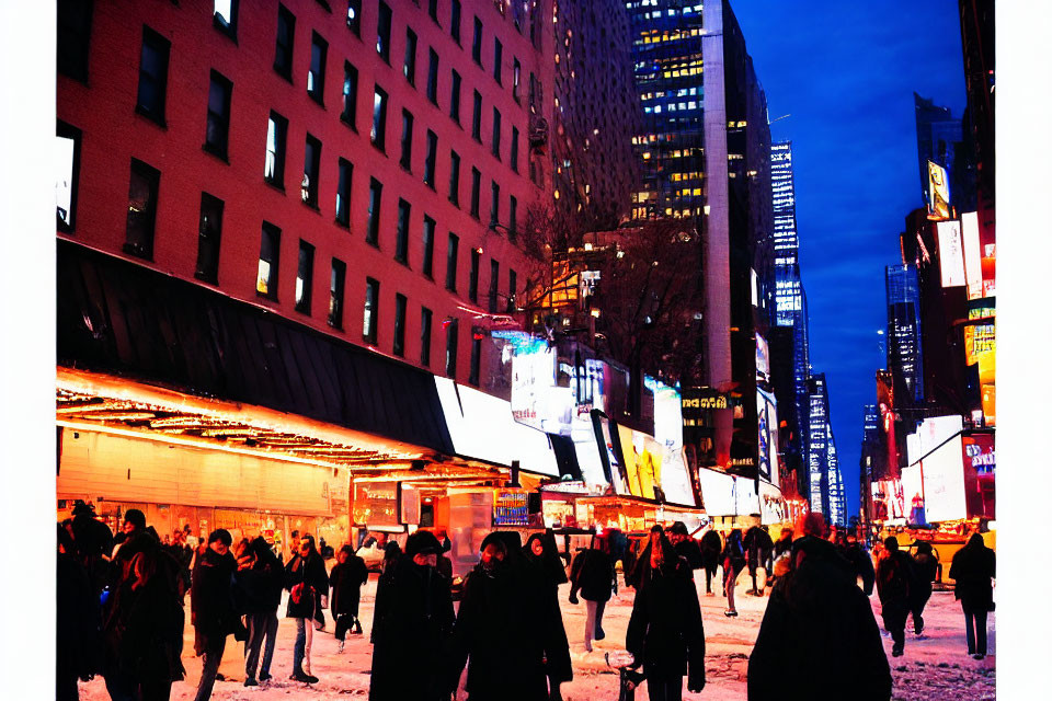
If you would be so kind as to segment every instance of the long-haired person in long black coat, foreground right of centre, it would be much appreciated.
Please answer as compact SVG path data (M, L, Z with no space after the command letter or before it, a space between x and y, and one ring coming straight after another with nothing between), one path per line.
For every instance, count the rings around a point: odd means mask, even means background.
M677 555L660 526L644 551L625 647L642 664L650 701L678 701L683 677L695 693L705 688L705 630L690 565Z

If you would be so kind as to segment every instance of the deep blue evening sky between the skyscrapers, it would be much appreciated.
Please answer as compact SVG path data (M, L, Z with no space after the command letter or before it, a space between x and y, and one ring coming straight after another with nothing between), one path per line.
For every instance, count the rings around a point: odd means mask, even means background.
M792 140L811 366L825 372L848 513L858 513L862 406L884 360L885 265L922 206L913 92L965 105L957 0L732 0L767 93L771 138Z

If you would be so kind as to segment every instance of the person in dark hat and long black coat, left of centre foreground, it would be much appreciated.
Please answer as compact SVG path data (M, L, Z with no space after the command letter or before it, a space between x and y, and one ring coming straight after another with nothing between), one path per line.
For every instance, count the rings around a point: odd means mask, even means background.
M434 533L414 532L377 588L369 701L449 698L445 654L454 611L449 582L435 568L439 552Z

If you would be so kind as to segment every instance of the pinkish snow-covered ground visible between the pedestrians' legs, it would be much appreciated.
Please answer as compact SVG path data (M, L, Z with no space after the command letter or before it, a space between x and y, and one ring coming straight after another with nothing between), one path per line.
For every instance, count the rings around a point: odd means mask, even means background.
M701 573L698 573L701 574ZM704 574L701 574L704 577ZM722 596L705 596L701 585L701 616L705 621L706 676L708 682L701 693L690 693L684 683L684 699L706 699L713 701L740 701L746 698L746 670L748 654L759 622L767 606L767 598L745 594L751 584L746 575L739 578L736 601L739 617L723 616L725 600ZM567 635L570 639L570 654L573 659L573 681L562 685L562 694L567 701L610 700L618 697L617 673L607 666L604 655L610 654L617 664L627 659L625 654L625 632L632 610L633 593L619 589L606 607L603 628L606 639L595 642L591 653L584 651L584 614L582 601L571 605L568 585L560 587L559 600L562 607ZM291 619L279 619L277 648L271 674L274 678L261 687L245 688L243 645L227 639L227 648L219 671L227 677L217 681L214 699L240 701L267 701L274 699L330 699L364 698L368 696L369 666L371 646L368 632L373 622L373 605L376 599L376 575L362 593L362 622L365 635L348 635L346 650L336 653L336 640L332 634L333 623L327 611L327 630L315 633L311 651L311 671L319 677L316 685L298 683L288 678L291 674L293 642L296 627ZM188 597L187 597L188 601ZM880 604L872 597L873 613L880 623ZM285 604L278 609L284 616ZM903 657L891 656L891 639L883 636L884 652L891 664L894 677L893 699L895 701L942 701L968 699L969 701L992 701L994 699L996 642L994 636L995 614L991 613L990 650L984 660L969 657L964 642L964 617L960 604L950 591L936 591L924 613L925 631L923 637L912 632L912 621L907 622L906 648ZM190 614L183 647L183 665L186 677L172 687L172 699L191 700L201 677L201 659L194 657L194 630L190 625ZM461 677L462 685L462 677ZM462 688L457 698L466 697ZM105 701L108 694L101 678L80 686L80 698L87 701ZM637 699L647 698L647 690L640 688ZM849 699L849 694L845 694Z

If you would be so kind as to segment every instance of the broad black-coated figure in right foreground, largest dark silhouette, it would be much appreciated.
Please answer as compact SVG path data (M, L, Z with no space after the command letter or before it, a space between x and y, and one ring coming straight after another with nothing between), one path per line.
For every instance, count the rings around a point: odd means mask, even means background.
M888 701L891 669L869 599L832 543L796 541L748 657L748 701Z

